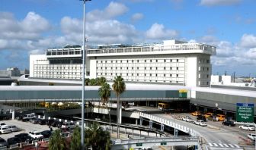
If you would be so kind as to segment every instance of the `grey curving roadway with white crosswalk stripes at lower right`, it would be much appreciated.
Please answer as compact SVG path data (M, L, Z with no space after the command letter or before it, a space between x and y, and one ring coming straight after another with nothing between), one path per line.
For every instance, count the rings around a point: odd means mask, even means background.
M248 133L253 133L254 131L245 131L240 130L238 127L226 127L222 125L222 122L213 122L207 121L207 127L200 127L195 125L194 123L188 123L178 118L181 118L187 114L154 114L157 117L162 117L167 120L174 121L175 123L179 123L183 126L190 127L197 131L200 136L203 136L206 145L213 145L213 143L220 145L229 145L230 148L232 146L234 148L238 147L247 147L248 149L254 148L251 145L246 145L246 141L244 139L248 139L246 135ZM190 115L190 117L192 117ZM192 117L194 120L196 117ZM222 146L221 146L222 147ZM224 146L225 147L225 146Z

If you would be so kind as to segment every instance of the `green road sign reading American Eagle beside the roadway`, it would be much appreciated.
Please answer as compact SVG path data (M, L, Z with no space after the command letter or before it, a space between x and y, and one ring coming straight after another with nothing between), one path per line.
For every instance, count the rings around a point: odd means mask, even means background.
M236 103L236 121L253 123L254 104Z

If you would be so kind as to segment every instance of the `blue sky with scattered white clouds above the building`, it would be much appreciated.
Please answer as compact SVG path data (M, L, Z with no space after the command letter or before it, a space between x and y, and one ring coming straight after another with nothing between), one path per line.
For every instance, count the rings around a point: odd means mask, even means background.
M82 44L82 2L1 0L0 69L29 68L29 55ZM256 77L254 0L92 0L86 3L90 45L164 39L216 45L213 73Z

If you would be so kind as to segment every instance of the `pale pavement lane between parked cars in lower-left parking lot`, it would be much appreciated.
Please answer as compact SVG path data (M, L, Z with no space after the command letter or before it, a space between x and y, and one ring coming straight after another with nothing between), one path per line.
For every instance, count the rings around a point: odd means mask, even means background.
M29 133L30 131L37 130L37 131L43 131L43 130L50 130L47 125L40 125L40 124L33 124L30 122L23 122L21 120L1 120L0 123L5 123L7 125L15 125L21 130L18 132L12 132L12 133L6 133L1 134L0 137L7 140L8 138L14 137L14 135L19 133ZM53 127L53 130L57 128Z

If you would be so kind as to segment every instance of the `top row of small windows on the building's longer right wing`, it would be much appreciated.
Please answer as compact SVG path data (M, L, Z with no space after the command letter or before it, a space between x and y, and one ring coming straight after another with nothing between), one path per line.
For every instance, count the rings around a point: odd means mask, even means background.
M181 60L180 60L181 61ZM96 63L139 63L143 62L143 60L116 60L116 61L96 61ZM179 59L150 59L150 60L144 60L144 62L179 62Z

